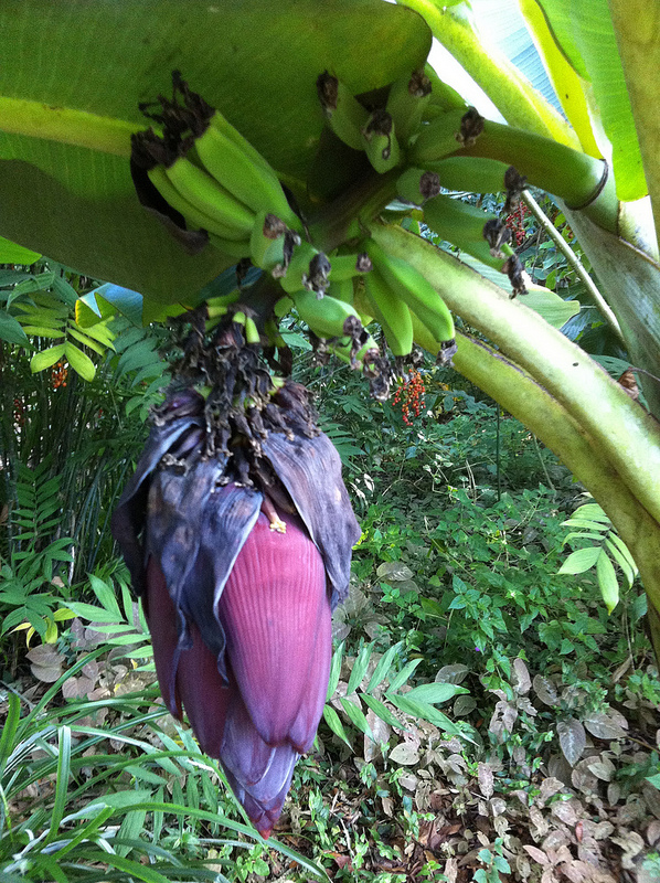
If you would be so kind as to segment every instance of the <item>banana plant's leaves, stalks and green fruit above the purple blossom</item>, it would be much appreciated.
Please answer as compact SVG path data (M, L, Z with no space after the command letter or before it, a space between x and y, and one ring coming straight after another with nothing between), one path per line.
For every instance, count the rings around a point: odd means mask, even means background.
M381 321L395 354L405 355L414 339L444 361L453 358L555 450L607 512L639 568L660 652L658 4L520 6L563 115L486 44L468 2L79 0L56 12L47 0L4 4L0 28L14 50L0 70L0 234L140 291L149 316L194 306L223 270L252 256L262 281L241 298L262 320L272 321L274 305L277 318L299 302L312 330L315 318L330 329L352 321L352 340L334 350L353 364L363 364L371 348L356 330L366 316ZM505 124L485 120L425 66L434 36ZM184 159L194 169L180 162L185 126L180 116L172 123L173 108L202 108L184 120L196 145ZM224 156L248 157L280 208L283 188L280 213L290 206L295 215L284 219L284 230L268 226L260 196L249 216L222 194L222 216L219 203L209 203L211 185L198 172L210 171L204 149L213 111L225 143L243 153L226 146ZM149 126L136 153L135 136ZM245 183L241 167L233 168ZM422 189L422 172L432 175L424 179L430 189ZM499 219L460 208L438 182L507 191L510 205L529 183L562 204L640 372L650 413L524 298L511 299L511 287L522 294L526 284ZM415 187L419 196L411 200ZM243 206L248 191L238 194ZM213 192L221 192L215 183ZM397 199L407 202L395 211ZM416 235L421 217L483 272ZM365 243L375 281L353 279L347 295L330 265ZM296 248L308 251L294 272ZM328 265L319 255L330 255ZM278 281L289 262L291 290ZM492 267L504 273L503 287L486 273ZM436 306L421 280L439 295ZM311 305L296 286L317 294ZM405 297L393 298L395 289ZM422 304L414 302L419 290ZM315 300L326 302L315 308ZM437 301L488 343L457 333L456 348L447 345L451 317Z

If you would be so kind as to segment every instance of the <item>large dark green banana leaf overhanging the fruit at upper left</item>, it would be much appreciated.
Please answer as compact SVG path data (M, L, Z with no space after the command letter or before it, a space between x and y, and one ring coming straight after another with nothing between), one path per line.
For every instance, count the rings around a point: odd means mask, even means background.
M161 302L227 264L187 255L134 192L138 103L170 94L172 70L295 184L323 128L319 73L366 92L430 47L421 17L380 0L3 0L0 34L0 235Z

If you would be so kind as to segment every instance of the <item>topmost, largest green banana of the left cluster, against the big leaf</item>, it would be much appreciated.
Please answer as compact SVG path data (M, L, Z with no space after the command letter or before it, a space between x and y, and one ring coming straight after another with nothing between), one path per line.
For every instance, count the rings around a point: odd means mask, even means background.
M245 139L239 143L230 136L227 130L234 127L217 111L213 120L213 125L209 125L194 142L209 174L253 212L272 212L289 225L299 224L275 171L264 164L265 161L255 161L252 152L245 149ZM238 135L235 129L234 132Z

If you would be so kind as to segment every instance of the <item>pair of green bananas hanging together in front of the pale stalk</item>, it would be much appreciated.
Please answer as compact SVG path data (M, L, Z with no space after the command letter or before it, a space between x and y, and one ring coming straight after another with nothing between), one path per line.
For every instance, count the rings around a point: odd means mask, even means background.
M379 228L364 244L373 270L364 278L368 300L383 327L394 355L408 355L415 337L415 317L428 331L440 352L440 361L455 351L454 319L445 301L427 279L405 260L393 257L379 243Z

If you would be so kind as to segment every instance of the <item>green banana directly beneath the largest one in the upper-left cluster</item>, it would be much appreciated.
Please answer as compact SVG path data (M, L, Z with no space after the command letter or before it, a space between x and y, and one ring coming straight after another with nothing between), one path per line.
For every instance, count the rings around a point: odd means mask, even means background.
M230 230L236 237L249 236L254 212L238 202L228 190L185 157L179 157L166 168L166 174L177 190L201 212Z

